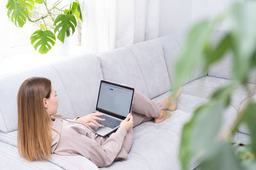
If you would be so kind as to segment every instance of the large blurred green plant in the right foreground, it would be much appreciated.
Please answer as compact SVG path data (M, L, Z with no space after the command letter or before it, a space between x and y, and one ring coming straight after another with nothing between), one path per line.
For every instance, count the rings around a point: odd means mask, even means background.
M214 18L206 18L191 27L186 43L175 65L173 89L195 74L198 67L204 71L227 57L232 80L217 89L207 103L193 112L182 130L179 159L183 170L200 164L200 170L255 170L256 169L256 100L246 82L256 69L256 1L237 1ZM225 34L216 42L215 30L223 22L229 22ZM244 89L248 100L244 101L230 128L223 130L224 113L237 88ZM233 139L240 125L250 131L248 144ZM196 162L196 163L195 163Z

